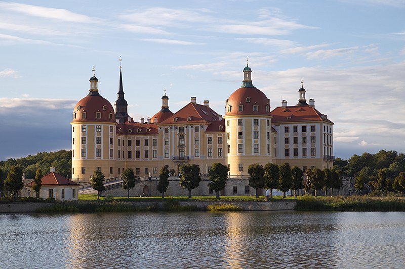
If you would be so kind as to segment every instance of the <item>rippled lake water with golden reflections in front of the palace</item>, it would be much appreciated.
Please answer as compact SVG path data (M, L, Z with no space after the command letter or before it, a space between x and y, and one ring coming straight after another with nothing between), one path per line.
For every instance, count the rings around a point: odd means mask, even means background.
M0 214L0 268L404 268L404 212Z

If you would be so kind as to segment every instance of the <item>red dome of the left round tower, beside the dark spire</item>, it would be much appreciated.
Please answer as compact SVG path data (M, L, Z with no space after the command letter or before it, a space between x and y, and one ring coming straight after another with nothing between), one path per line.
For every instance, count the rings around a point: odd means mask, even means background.
M86 114L83 115L83 113ZM99 118L97 113L101 113ZM115 123L115 115L114 109L107 99L101 97L96 91L90 91L89 95L76 103L72 122L94 121Z

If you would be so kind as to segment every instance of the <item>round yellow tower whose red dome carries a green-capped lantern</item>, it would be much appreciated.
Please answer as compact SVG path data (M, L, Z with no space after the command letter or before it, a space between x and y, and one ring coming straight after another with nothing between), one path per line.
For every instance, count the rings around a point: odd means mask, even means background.
M272 162L270 99L253 86L249 64L239 89L226 100L226 163L230 175L248 175L248 167Z

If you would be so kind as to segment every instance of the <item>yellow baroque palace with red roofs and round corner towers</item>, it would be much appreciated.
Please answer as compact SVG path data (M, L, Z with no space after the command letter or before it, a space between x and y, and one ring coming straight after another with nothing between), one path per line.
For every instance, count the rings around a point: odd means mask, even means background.
M72 178L89 179L96 170L106 178L116 177L125 168L139 177L154 177L161 167L178 174L186 164L208 174L212 164L222 163L228 166L229 180L243 179L237 185L249 194L247 171L254 163L288 162L304 171L331 168L333 122L315 109L314 99L307 103L305 89L299 89L296 105L282 100L271 110L270 99L253 86L251 68L247 65L243 72L243 84L224 103L224 116L212 110L208 100L198 104L196 97L173 113L165 94L160 111L140 122L128 115L121 71L114 107L100 95L93 74L89 94L75 105L70 123ZM235 188L229 192L238 193ZM199 192L208 193L208 187Z

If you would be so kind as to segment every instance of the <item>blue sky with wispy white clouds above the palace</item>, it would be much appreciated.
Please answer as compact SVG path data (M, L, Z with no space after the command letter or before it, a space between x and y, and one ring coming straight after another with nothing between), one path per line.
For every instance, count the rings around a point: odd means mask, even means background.
M197 97L225 114L242 70L270 98L334 122L334 155L405 152L405 1L0 1L0 160L70 149L90 88L135 121ZM118 61L121 57L122 61Z

